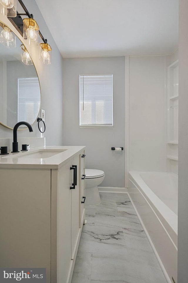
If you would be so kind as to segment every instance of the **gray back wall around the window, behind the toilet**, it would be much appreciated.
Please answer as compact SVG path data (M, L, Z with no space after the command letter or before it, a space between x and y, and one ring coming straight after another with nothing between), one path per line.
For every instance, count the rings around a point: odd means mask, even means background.
M113 74L113 129L80 129L79 74ZM85 145L86 168L105 172L103 187L125 187L125 57L63 59L63 144ZM125 148L124 148L125 149Z

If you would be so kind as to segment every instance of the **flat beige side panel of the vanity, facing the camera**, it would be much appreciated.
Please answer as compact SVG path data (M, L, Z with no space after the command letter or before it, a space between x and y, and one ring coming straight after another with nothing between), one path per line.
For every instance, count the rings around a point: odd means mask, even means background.
M0 168L0 180L0 267L45 267L50 283L51 170Z

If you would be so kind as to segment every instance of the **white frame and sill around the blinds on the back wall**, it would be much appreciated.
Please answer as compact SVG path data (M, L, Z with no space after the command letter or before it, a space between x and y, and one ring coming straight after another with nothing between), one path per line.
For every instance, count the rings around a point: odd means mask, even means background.
M80 125L80 77L83 76L112 76L112 125L105 124L85 124ZM80 74L79 75L79 126L80 129L113 129L113 74Z

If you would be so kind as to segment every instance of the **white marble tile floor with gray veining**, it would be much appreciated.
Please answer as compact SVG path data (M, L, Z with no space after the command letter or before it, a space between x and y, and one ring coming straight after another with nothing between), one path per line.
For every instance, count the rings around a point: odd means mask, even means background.
M167 283L127 194L86 207L72 283Z

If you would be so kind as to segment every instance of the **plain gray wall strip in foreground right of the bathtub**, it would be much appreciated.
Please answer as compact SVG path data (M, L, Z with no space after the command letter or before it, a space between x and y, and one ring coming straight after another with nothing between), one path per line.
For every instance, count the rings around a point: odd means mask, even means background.
M179 0L178 283L188 282L188 1Z

